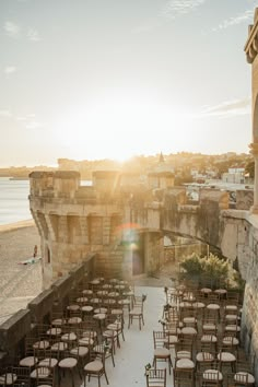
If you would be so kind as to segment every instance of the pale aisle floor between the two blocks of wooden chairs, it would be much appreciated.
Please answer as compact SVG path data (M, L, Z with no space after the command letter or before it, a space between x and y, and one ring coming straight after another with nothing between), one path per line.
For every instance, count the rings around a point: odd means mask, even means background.
M145 280L148 282L148 280ZM154 281L155 282L155 281ZM156 281L159 283L159 281ZM110 387L145 387L144 366L152 363L153 355L153 330L161 330L159 319L162 315L162 306L165 303L163 286L136 286L136 295L146 294L144 302L144 326L140 330L137 320L128 329L128 315L125 313L125 341L116 350L115 367L112 359L106 361L106 373ZM102 376L102 387L106 386L105 377ZM61 387L70 387L69 375L62 378ZM75 386L84 386L84 380L77 376ZM97 386L97 378L91 378L86 383L89 387ZM173 386L172 375L167 373L167 386Z

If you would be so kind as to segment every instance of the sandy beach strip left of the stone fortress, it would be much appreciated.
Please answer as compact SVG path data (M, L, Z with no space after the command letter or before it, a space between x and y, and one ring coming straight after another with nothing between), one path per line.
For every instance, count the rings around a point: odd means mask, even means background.
M33 257L35 245L40 257L40 237L33 220L0 225L0 324L42 291L40 262L21 263Z

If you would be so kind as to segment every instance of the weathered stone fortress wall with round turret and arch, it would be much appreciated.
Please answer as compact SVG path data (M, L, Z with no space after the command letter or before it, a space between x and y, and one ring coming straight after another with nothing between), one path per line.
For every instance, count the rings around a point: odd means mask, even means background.
M206 189L191 203L184 187L163 181L163 188L153 188L138 179L127 185L126 176L115 172L95 173L91 187L81 186L77 172L34 172L30 179L46 289L90 253L95 272L132 279L163 265L164 235L196 238L237 262L246 280L242 336L257 363L258 220L249 208L243 210L244 192L230 209L225 191Z

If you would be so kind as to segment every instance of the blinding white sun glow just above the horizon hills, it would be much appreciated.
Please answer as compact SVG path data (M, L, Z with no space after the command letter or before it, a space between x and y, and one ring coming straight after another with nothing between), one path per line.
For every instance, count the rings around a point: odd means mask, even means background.
M173 130L173 141L180 132L181 116L150 101L106 101L64 113L56 133L67 157L124 162L164 150Z

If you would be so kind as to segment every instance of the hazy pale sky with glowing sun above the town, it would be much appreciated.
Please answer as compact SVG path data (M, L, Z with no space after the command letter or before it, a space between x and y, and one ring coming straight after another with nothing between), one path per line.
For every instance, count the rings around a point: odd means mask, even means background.
M0 167L248 153L254 0L0 0Z

